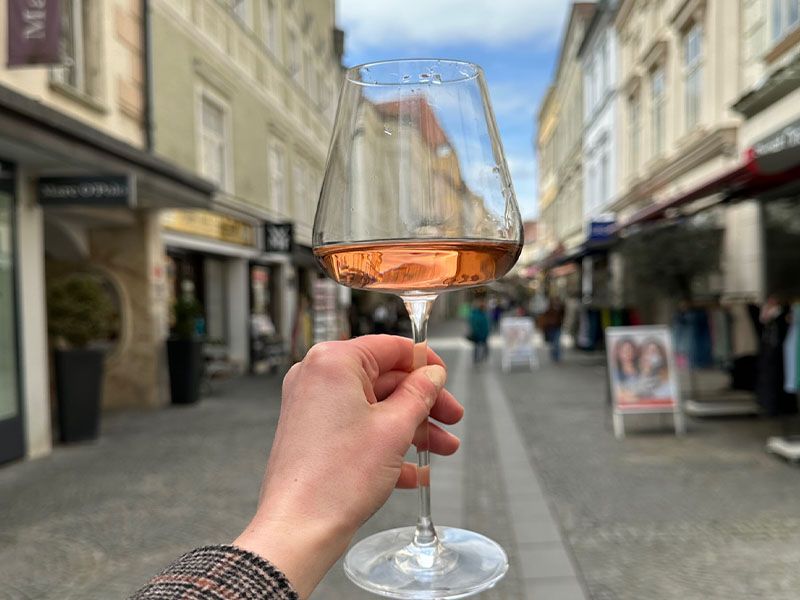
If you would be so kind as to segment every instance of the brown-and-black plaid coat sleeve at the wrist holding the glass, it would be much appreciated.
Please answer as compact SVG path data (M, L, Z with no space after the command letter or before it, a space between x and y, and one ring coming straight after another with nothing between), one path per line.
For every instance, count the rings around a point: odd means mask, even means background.
M298 600L289 580L269 562L235 546L184 554L130 600Z

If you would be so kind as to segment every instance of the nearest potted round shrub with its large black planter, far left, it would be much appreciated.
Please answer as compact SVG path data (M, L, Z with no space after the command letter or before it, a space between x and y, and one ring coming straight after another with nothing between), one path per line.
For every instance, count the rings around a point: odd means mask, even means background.
M73 273L47 290L47 329L53 344L59 434L62 442L97 438L103 363L116 321L100 278Z

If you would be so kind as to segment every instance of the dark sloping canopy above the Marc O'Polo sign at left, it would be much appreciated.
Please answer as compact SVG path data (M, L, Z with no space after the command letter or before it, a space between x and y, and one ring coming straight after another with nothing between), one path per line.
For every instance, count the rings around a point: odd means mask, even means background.
M38 175L125 174L138 206L210 208L216 186L131 144L0 86L0 158Z

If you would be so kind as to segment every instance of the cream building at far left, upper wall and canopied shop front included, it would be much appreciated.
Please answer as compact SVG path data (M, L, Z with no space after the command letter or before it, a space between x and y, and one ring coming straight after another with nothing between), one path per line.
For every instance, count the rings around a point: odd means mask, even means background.
M0 320L11 324L0 331L0 461L50 448L46 290L63 275L102 278L113 298L104 404L164 401L158 212L210 206L214 187L146 151L142 3L59 8L47 13L61 21L56 62L0 69ZM98 193L109 181L113 199Z

